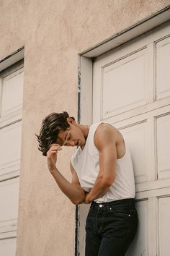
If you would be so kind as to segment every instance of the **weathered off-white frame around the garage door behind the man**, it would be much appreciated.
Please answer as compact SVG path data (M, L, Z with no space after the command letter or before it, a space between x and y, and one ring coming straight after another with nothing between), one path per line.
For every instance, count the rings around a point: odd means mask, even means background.
M98 43L91 48L79 53L78 95L77 95L77 119L79 123L91 124L92 122L92 95L93 95L93 62L98 56L105 54L117 46L127 43L129 40L148 32L164 22L169 21L170 5L158 12L145 17L143 20L127 27L125 30L112 35L107 40ZM79 227L80 205L76 205L76 229L75 229L75 256L79 256Z

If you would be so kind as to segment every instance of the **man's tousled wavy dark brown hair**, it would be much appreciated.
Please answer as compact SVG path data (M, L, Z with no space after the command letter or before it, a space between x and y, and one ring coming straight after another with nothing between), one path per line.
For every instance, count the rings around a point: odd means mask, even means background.
M61 130L66 131L70 127L67 122L68 117L68 113L63 111L62 113L51 113L42 120L40 135L36 135L39 142L38 149L42 155L47 155L50 145L56 142L58 133ZM73 116L71 118L75 120Z

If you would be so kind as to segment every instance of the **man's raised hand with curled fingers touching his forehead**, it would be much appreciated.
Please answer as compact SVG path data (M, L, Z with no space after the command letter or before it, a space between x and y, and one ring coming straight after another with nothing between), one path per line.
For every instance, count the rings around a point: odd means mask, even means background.
M62 150L61 146L58 144L51 144L50 149L47 153L48 169L50 173L53 172L56 168L55 164L57 162L57 153Z

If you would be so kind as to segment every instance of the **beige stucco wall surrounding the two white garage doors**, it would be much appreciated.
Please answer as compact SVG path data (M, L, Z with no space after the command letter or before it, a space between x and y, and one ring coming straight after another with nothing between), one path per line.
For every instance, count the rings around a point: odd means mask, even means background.
M17 256L74 255L75 206L37 150L52 111L76 116L78 53L170 4L170 0L0 1L0 60L24 46L22 168ZM64 149L58 168L71 179Z

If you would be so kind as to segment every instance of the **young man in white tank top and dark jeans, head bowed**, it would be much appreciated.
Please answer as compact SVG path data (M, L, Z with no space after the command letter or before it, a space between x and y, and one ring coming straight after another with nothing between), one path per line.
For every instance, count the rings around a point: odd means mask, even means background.
M86 219L86 256L122 256L138 227L133 165L125 140L110 124L77 124L65 111L42 121L39 150L58 187L74 204L91 203ZM78 147L72 182L57 167L62 146Z

